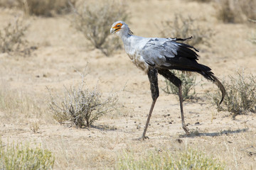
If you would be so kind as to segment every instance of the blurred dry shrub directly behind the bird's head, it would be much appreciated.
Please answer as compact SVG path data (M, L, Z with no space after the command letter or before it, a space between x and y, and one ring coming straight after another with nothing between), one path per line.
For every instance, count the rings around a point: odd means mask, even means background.
M97 1L91 4L73 6L74 17L72 25L85 35L93 47L100 49L109 56L120 46L119 38L110 35L110 26L114 21L126 21L127 5L122 1Z

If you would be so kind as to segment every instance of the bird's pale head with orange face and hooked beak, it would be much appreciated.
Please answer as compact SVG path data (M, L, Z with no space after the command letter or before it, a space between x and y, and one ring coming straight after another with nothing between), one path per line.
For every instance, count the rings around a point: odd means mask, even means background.
M110 33L114 34L117 33L117 35L128 35L132 34L132 31L129 30L129 27L124 21L116 21L112 24L112 27L110 29Z

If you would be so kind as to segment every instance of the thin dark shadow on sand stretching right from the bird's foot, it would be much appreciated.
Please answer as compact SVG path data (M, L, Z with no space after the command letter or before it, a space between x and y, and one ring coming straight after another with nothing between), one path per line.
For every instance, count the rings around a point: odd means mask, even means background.
M201 136L208 136L208 137L216 137L222 135L230 135L240 132L247 132L247 128L238 129L238 130L221 130L220 132L198 132L192 131L189 135L180 135L179 137L201 137Z

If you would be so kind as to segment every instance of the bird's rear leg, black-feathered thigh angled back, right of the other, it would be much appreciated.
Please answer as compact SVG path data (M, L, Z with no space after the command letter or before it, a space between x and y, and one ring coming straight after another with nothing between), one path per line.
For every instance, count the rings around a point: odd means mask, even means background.
M178 87L178 98L180 101L180 108L181 108L181 123L182 128L186 132L186 135L189 135L188 128L186 127L185 120L184 120L184 113L183 113L183 99L182 99L182 91L181 91L181 80L178 79L174 74L172 74L168 69L159 69L158 73L161 74L163 77L171 81L175 86Z

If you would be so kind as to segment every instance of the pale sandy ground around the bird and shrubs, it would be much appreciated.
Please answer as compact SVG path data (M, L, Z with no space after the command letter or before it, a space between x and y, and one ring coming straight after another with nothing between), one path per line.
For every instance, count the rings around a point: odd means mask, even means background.
M161 21L171 19L174 13L191 15L215 32L211 47L199 48L199 62L212 68L220 79L235 75L238 69L256 75L256 47L248 41L252 28L220 23L212 5L178 0L128 1L128 4L129 27L135 35L157 37ZM0 8L3 25L14 16L16 11ZM55 154L54 169L111 169L125 149L139 154L149 149L184 146L226 162L229 169L256 169L255 113L233 119L230 113L218 112L205 97L206 91L218 88L209 81L201 81L200 76L197 79L203 87L200 84L196 87L198 101L183 103L188 128L198 131L198 135L185 135L176 96L161 90L147 132L149 140L134 140L142 135L151 105L146 74L129 61L124 50L114 52L111 57L93 50L83 35L70 26L68 17L26 18L30 24L26 39L38 50L30 57L0 54L1 88L22 98L26 105L23 107L28 109L28 113L26 109L15 108L12 112L1 111L0 135L4 142L41 142ZM80 83L75 70L87 73L87 86L97 84L103 94L114 91L119 96L117 111L100 118L95 128L60 125L48 112L46 86L53 94L63 93L64 86ZM165 86L161 77L159 86ZM35 123L39 125L36 134L31 130ZM177 139L183 142L179 144Z

